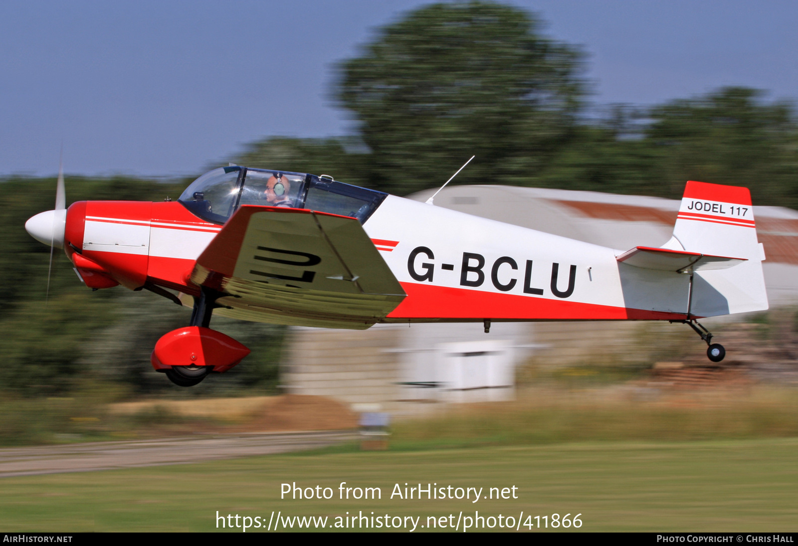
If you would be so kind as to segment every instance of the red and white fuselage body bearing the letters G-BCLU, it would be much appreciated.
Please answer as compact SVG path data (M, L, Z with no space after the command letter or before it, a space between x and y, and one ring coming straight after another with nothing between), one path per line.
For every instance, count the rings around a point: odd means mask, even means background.
M67 212L64 248L89 287L196 296L196 259L221 229L179 201L84 201ZM622 277L639 271L611 248L396 196L363 229L407 294L376 322L678 319L687 311L686 298L672 297L686 295L684 275L646 271L643 291L630 294ZM650 283L656 291L645 290Z

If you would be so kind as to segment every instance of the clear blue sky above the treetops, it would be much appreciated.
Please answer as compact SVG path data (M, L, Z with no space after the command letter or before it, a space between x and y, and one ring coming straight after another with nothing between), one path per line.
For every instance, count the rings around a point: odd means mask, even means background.
M429 2L0 2L0 176L196 174L253 140L350 132L338 61ZM515 0L581 45L596 105L723 85L798 98L798 2Z

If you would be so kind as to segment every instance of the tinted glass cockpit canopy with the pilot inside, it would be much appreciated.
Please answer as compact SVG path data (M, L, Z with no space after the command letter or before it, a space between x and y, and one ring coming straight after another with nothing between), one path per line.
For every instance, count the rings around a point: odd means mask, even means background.
M245 204L308 208L351 216L363 224L387 195L344 184L326 175L231 165L194 180L179 200L194 215L214 224L224 224Z

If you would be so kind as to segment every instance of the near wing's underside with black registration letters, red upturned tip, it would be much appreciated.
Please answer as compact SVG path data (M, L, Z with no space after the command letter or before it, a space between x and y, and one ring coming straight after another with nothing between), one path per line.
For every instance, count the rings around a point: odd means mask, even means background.
M219 315L295 326L365 329L405 298L358 220L297 208L244 205L191 278Z

